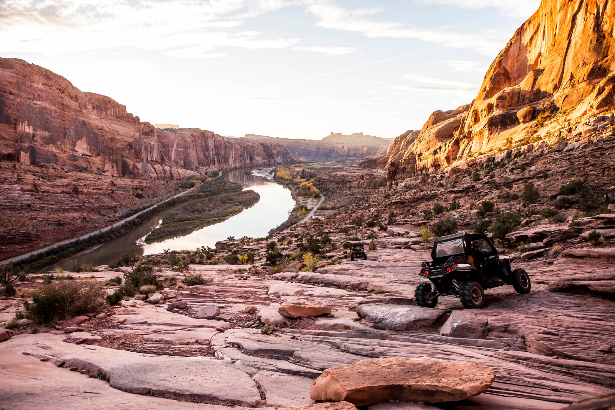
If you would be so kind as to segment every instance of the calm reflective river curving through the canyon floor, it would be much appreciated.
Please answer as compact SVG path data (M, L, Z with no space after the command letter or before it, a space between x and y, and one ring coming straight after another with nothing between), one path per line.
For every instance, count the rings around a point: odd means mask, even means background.
M245 172L250 172L250 170ZM244 189L258 192L261 198L252 207L231 216L226 221L197 229L191 234L162 242L148 243L146 235L162 223L165 215L180 207L180 203L157 213L127 234L93 248L87 253L66 259L58 266L68 269L74 262L82 266L99 266L117 262L125 253L148 255L162 253L165 249L195 250L200 246L213 248L216 242L231 236L238 239L244 236L251 238L267 236L269 230L288 219L288 213L295 207L295 200L287 187L274 182L273 168L254 169L251 170L250 175L245 172L244 170L230 171L226 178L241 184Z

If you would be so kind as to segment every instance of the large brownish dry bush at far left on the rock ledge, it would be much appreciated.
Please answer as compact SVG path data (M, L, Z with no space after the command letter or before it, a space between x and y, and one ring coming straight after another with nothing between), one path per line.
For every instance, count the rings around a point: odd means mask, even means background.
M49 323L85 313L103 306L105 291L95 280L63 280L43 286L32 294L32 303L24 302L28 317Z

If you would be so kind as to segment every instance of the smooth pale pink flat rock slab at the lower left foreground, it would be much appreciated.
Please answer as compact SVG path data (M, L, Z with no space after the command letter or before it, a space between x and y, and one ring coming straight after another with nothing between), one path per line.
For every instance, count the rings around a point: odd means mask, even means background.
M192 396L216 404L255 406L261 397L248 374L231 363L189 357L155 357L126 350L62 342L62 336L23 334L21 347L33 357L89 373L101 371L109 385L129 393Z

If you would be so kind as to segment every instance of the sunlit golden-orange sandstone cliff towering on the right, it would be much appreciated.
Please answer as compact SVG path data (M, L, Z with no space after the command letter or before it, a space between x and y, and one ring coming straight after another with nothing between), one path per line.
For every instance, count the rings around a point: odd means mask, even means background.
M542 0L493 61L472 103L435 111L420 131L400 135L386 155L359 167L387 167L395 181L494 155L510 143L569 138L571 125L613 108L614 26L608 0ZM559 126L536 131L549 121Z

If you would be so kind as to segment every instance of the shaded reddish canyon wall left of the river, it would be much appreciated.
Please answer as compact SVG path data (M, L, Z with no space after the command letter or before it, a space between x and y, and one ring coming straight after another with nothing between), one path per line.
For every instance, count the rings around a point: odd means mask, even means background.
M0 159L112 176L181 179L216 168L293 160L273 141L159 130L109 97L48 69L0 58Z

